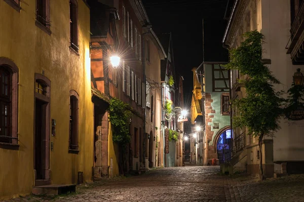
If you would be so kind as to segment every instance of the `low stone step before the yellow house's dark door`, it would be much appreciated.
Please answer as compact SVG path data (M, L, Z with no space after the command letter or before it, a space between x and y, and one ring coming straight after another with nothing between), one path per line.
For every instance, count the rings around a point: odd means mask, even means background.
M41 195L41 194L59 195L59 194L65 194L68 192L76 192L76 185L75 184L52 184L52 185L45 185L45 186L34 186L32 188L32 193L34 195Z

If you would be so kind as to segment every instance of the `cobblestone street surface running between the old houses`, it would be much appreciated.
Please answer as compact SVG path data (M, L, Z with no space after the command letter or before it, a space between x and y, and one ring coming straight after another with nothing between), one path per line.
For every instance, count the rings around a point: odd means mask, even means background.
M27 196L16 201L304 201L304 175L263 182L243 175L224 176L219 167L174 167L140 176L77 187L77 194Z

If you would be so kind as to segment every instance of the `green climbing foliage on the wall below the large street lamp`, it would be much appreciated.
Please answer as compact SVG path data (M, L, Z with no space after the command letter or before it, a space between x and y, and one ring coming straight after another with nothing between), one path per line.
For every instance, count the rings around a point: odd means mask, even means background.
M117 98L111 98L108 112L112 125L113 141L122 145L129 143L131 140L129 125L132 113L128 104Z

